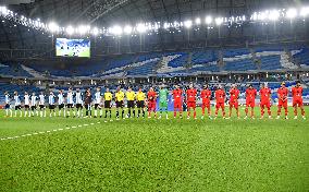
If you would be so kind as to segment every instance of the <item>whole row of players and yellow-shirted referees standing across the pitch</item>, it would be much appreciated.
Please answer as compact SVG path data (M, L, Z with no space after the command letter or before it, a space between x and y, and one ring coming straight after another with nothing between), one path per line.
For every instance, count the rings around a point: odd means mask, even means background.
M281 84L281 87L277 89L277 97L279 97L279 105L277 105L277 119L281 116L281 109L285 109L285 119L287 119L288 110L287 110L287 96L289 91L285 87L285 83L283 82ZM91 92L88 88L83 95L81 91L77 88L76 93L74 94L72 88L69 89L66 97L64 98L63 92L59 91L59 94L55 96L53 92L50 92L50 95L48 96L48 108L50 110L50 117L55 116L55 106L58 105L58 116L61 116L63 111L63 116L70 117L71 111L73 112L73 116L83 117L83 107L86 109L86 117L91 117L91 107L95 107L95 115L94 117L102 117L103 111L102 108L106 109L104 118L109 117L111 118L111 107L112 107L112 100L115 101L116 106L116 118L125 118L124 113L124 99L127 100L127 115L126 117L145 117L146 113L146 107L148 108L148 118L151 118L151 113L154 113L154 118L157 118L157 98L159 97L159 110L160 116L162 117L162 112L165 112L166 119L169 119L168 116L168 103L169 103L169 91L161 86L159 93L156 93L152 87L150 87L147 95L141 91L141 88L138 89L137 93L133 92L132 88L128 88L126 93L124 93L121 88L118 88L116 93L113 95L109 88L107 88L106 93L102 95L100 88L97 88L97 92L95 93L94 100L91 96ZM214 118L218 117L218 112L221 109L222 116L225 119L230 119L232 116L232 110L236 110L237 118L239 118L239 107L238 107L238 98L239 98L239 89L237 89L236 85L233 85L230 89L230 100L228 100L228 117L225 116L225 91L221 85L218 86L217 91L214 92L214 99L215 99L215 113ZM264 110L267 109L268 116L271 119L271 89L268 87L268 84L262 84L261 88L259 91L260 94L260 109L261 109L261 119L264 117ZM12 110L11 110L11 97L5 92L5 112L7 117L9 117L9 112L12 117ZM75 95L75 96L74 96ZM184 96L185 95L185 96ZM258 92L256 88L252 87L252 85L249 85L246 89L246 117L248 118L249 108L250 117L255 118L255 107L256 107L256 97L258 95ZM292 96L293 96L293 107L294 107L294 115L295 119L297 119L297 108L299 107L301 110L301 116L305 118L305 110L302 105L302 87L299 82L297 82L296 86L292 88ZM29 96L27 93L24 95L24 117L30 117L30 116L40 116L46 117L46 100L45 95L41 92L40 95L37 97L35 93ZM58 101L55 103L55 98L58 98ZM75 98L75 99L74 99ZM193 118L196 119L196 107L197 107L197 99L198 99L198 92L196 88L194 88L193 84L189 85L189 88L187 91L184 91L176 85L175 89L172 91L172 98L174 101L174 118L176 118L177 112L180 113L180 117L183 117L183 104L186 104L187 107L187 119L191 117L191 110L193 110ZM200 91L199 98L201 98L201 109L202 109L202 116L201 119L203 119L206 109L208 112L208 117L211 118L211 110L210 110L210 101L212 98L212 92L209 88L208 85L205 85L203 88ZM38 99L38 101L37 101ZM22 106L21 106L21 99L17 92L14 93L13 96L14 106L15 106L15 117L17 116L17 111L20 111L20 117L22 117ZM66 100L66 105L64 105L64 101ZM102 105L103 104L103 105ZM135 110L135 104L137 107L137 113ZM74 110L74 106L76 110ZM98 115L99 111L99 115Z

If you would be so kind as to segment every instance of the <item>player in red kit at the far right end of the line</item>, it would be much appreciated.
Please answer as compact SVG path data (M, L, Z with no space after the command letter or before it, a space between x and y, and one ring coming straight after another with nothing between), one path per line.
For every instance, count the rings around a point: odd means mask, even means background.
M295 87L292 88L292 96L293 96L293 107L294 107L294 115L295 115L294 119L297 119L297 106L301 110L302 119L306 119L304 104L302 104L302 87L299 81L296 82Z

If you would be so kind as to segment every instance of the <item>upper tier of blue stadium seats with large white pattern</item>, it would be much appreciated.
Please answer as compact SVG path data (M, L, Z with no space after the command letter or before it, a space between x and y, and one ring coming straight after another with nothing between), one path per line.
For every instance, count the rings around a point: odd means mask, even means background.
M286 52L287 50L291 53ZM255 59L254 59L254 56ZM292 56L292 58L291 58ZM255 60L259 62L255 62ZM223 60L221 67L218 63ZM297 62L293 62L293 61ZM74 62L74 61L72 61ZM275 71L309 67L309 48L304 45L259 46L256 48L226 48L212 50L193 50L176 52L151 52L139 55L120 55L103 57L100 61L84 61L65 67L49 64L0 65L0 75L39 76L46 73L54 77L71 76L124 76L170 74L183 72L220 72L221 71ZM187 68L187 69L186 69ZM156 71L157 70L157 71Z

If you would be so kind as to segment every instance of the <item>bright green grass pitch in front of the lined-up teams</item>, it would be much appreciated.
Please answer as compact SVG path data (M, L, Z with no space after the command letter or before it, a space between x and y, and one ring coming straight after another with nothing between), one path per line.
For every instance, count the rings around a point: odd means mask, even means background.
M293 116L104 123L1 112L0 137L96 124L0 141L0 191L309 191L309 121Z

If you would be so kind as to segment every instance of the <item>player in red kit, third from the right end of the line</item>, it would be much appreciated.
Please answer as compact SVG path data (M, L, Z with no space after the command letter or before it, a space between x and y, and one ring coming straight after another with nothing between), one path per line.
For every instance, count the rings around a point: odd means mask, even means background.
M260 89L260 107L261 107L261 119L264 118L264 108L268 108L269 119L271 119L271 89L268 84L261 85Z

